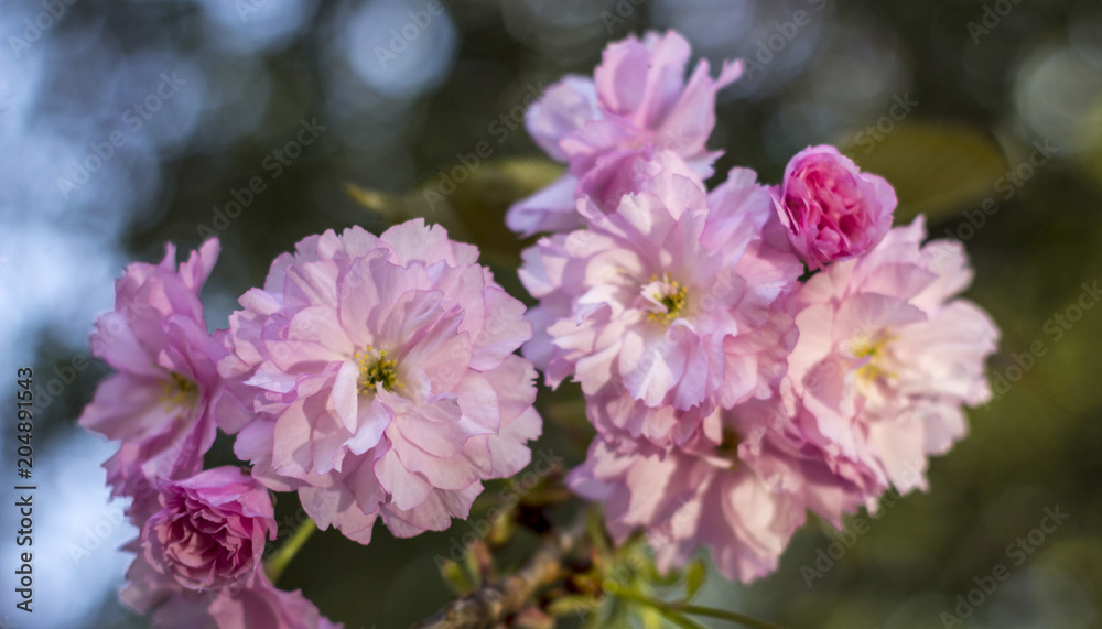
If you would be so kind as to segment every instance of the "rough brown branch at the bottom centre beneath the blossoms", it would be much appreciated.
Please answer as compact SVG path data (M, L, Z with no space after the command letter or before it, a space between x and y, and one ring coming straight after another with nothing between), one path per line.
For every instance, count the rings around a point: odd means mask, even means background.
M585 539L584 520L564 531L552 531L516 572L498 583L456 598L414 629L489 629L517 614L541 590L566 576L566 560Z

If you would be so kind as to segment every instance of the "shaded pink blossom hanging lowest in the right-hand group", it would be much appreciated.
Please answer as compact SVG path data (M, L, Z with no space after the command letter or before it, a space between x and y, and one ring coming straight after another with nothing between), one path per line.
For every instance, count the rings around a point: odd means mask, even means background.
M784 424L773 400L716 411L681 446L598 435L570 486L604 503L617 543L641 530L660 570L707 546L721 574L750 582L777 568L808 510L841 528L862 500L824 462L767 430L778 413Z

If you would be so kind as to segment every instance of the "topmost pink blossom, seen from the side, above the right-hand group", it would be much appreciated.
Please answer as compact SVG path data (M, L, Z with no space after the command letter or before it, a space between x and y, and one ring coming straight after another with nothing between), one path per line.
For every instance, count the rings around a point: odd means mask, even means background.
M681 156L698 175L711 176L722 153L709 151L715 126L715 95L742 75L741 62L724 63L720 76L701 61L685 80L691 51L678 33L648 32L608 45L594 78L568 76L532 105L529 132L551 158L570 170L547 188L515 204L506 216L514 231L565 231L580 223L580 180L594 169L623 163L623 151L645 147Z

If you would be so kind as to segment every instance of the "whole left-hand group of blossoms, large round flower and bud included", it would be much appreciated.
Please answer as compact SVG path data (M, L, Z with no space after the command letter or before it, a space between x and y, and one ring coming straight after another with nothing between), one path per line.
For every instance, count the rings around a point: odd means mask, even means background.
M108 484L140 529L122 600L159 627L334 627L266 576L269 490L365 544L380 517L398 536L466 518L542 430L515 354L531 324L476 248L413 220L306 238L212 334L198 293L218 252L131 264L91 337L117 373L79 421L120 442ZM219 429L251 474L203 469Z

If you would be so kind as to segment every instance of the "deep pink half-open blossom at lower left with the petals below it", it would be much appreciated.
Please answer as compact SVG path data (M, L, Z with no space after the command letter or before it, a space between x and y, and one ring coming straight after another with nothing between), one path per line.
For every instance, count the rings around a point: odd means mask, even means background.
M272 627L332 629L299 592L277 589L264 575L264 543L276 539L271 498L236 467L158 481L161 510L136 523L128 545L138 556L122 601L152 614L159 628Z

